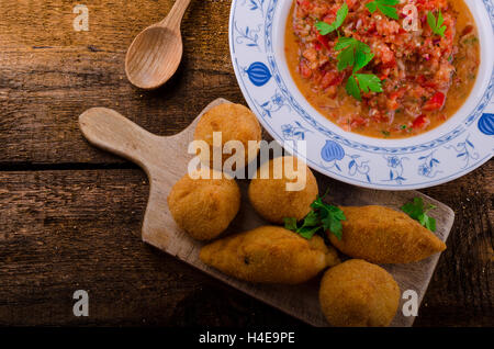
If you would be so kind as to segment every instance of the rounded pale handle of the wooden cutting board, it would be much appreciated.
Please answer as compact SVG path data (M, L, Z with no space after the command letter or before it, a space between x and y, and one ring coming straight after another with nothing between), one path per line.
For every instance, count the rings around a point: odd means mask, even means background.
M92 108L79 116L79 126L92 145L120 155L147 170L159 149L159 137L108 108Z

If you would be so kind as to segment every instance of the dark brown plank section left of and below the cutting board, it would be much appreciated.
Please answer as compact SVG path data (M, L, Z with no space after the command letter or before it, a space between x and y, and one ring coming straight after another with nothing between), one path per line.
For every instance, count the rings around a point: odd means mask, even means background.
M0 172L0 325L299 322L141 241L139 170ZM72 315L87 290L90 316Z

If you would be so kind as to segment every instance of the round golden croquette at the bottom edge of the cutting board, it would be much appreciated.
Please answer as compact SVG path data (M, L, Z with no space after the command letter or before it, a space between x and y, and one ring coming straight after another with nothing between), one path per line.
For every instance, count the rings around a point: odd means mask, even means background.
M326 271L319 302L333 326L389 326L398 307L400 288L381 267L350 259Z

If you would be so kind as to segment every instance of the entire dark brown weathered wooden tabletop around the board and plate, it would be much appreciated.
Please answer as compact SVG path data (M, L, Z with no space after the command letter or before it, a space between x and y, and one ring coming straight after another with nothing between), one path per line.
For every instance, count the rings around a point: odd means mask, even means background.
M0 325L299 325L139 240L148 183L134 165L91 147L77 117L117 110L161 135L212 100L245 103L228 53L229 0L193 1L184 57L154 92L134 89L127 45L172 0L5 0L0 7ZM494 161L424 190L456 224L416 326L494 325ZM336 184L336 182L335 182ZM89 317L72 293L89 292Z

